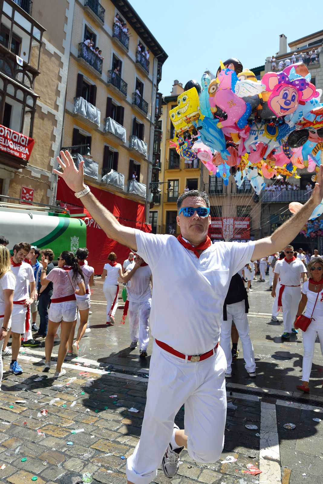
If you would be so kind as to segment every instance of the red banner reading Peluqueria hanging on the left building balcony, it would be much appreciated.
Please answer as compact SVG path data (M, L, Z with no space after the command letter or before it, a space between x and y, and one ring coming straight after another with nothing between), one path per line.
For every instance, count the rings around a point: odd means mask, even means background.
M35 141L0 124L0 151L29 160Z

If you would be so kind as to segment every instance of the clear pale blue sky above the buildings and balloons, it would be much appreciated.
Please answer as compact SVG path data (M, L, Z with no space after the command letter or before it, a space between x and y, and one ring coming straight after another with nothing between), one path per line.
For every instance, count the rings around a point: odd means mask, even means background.
M169 95L174 79L200 82L222 61L237 57L249 69L263 65L287 42L322 29L320 2L306 1L130 0L168 54L159 91ZM316 11L316 14L315 14Z

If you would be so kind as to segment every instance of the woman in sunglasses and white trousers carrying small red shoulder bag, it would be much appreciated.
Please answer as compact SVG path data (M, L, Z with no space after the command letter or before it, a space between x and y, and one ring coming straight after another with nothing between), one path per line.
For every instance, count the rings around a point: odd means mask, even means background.
M320 338L321 352L323 355L323 260L321 257L315 257L308 262L308 281L303 284L302 299L299 302L296 319L303 314L312 321L306 331L303 331L303 368L302 384L296 385L297 390L309 393L309 376L314 356L314 345L317 335ZM319 294L318 298L317 295ZM317 301L316 301L317 298ZM315 304L316 301L316 304ZM315 307L314 307L315 305ZM314 309L314 311L313 311ZM295 323L294 323L295 325Z

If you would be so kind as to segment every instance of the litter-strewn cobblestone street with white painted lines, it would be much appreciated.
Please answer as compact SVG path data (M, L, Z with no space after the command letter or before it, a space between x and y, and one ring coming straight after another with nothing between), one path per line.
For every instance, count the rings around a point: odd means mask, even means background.
M304 395L294 391L301 376L301 335L282 343L281 323L270 322L268 283L254 281L253 288L249 321L257 378L249 378L244 369L239 345L233 378L227 382L228 413L220 460L197 465L183 451L173 480L159 470L154 483L323 482L323 426L313 420L323 419L319 343L315 345L311 393ZM119 302L116 325L106 327L102 284L96 279L91 332L82 339L79 357L64 363L67 373L60 379L53 378L54 368L42 373L44 342L41 348L21 348L21 376L9 373L10 357L4 358L0 482L21 484L35 476L40 484L76 484L86 478L94 483L126 483L126 458L139 439L144 414L149 356L143 361L139 348L129 348L128 321L125 326L118 324L123 310L122 300ZM58 345L55 343L53 357ZM151 346L150 341L148 355ZM183 419L184 408L176 417L180 427ZM294 423L295 428L286 429L285 423ZM248 464L262 473L246 473Z

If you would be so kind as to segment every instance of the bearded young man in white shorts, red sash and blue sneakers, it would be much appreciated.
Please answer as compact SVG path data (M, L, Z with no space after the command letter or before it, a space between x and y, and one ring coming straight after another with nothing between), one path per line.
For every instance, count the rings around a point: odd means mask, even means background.
M19 348L21 344L21 335L23 339L27 338L30 324L30 304L33 302L32 297L35 292L35 277L31 265L25 262L25 258L30 251L30 244L20 242L14 246L14 255L11 257L11 270L16 278L14 292L14 307L11 316L11 335L12 335L12 361L10 370L15 375L21 375L23 370L17 362ZM29 295L31 297L29 297Z

